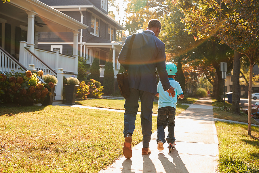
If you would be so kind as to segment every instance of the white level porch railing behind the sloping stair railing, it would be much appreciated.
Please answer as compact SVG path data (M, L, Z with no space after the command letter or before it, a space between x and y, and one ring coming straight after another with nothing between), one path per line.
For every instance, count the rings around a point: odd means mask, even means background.
M77 63L75 57L60 54L56 50L54 50L56 52L51 52L35 48L34 51L37 57L39 57L55 71L59 68L62 68L63 72L76 73L77 71L75 70L75 63Z

